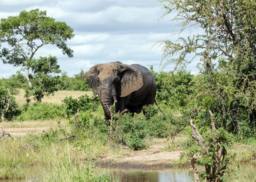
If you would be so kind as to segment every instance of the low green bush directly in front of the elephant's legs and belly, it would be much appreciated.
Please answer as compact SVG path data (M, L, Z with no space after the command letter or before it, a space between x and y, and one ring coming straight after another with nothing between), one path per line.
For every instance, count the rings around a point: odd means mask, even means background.
M169 111L163 108L165 114L159 112L157 106L146 106L143 109L147 113L146 116L143 116L143 114L136 114L134 117L131 114L120 116L119 139L131 149L146 148L145 140L147 136L167 138L176 135L177 129L180 131L181 126L184 126L184 120L174 119L173 114L170 113L170 108ZM113 126L116 126L117 117L114 117ZM175 124L178 128L174 127Z

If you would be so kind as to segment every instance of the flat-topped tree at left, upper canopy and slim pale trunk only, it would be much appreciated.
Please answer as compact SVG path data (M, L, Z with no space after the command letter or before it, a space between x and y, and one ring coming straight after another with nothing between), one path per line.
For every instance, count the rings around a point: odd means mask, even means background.
M30 89L33 89L29 71L36 60L34 56L39 48L51 44L59 47L62 53L70 58L73 51L67 46L66 41L73 36L73 30L67 23L47 17L46 11L22 11L18 16L1 19L0 58L3 63L25 68L26 80Z

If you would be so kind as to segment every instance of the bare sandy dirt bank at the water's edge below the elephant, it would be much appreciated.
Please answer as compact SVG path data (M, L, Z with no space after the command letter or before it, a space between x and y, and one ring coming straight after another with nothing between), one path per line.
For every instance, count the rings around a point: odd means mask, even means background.
M99 167L121 167L136 169L163 169L177 167L181 151L163 151L167 142L165 139L158 140L148 149L130 151L127 156L112 158L107 157L97 162Z

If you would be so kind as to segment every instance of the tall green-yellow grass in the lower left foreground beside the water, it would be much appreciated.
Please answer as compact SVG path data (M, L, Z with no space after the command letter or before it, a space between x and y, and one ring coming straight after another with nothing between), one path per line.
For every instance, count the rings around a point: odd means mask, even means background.
M69 135L75 138L61 141ZM28 179L32 175L39 181L110 181L108 174L94 174L91 166L101 157L124 154L113 145L97 129L78 131L72 127L1 138L0 180ZM37 168L35 174L29 174L31 167Z

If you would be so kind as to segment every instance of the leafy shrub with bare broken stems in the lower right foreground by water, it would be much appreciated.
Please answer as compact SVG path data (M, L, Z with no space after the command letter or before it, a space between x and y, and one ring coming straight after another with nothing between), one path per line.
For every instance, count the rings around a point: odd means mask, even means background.
M187 157L191 159L194 173L197 173L195 164L203 165L206 170L200 173L202 181L204 179L206 181L223 181L225 173L230 173L228 165L233 157L227 154L227 149L228 145L233 142L233 136L223 128L216 130L213 125L211 129L200 128L202 133L200 134L197 127L192 123L191 125Z

